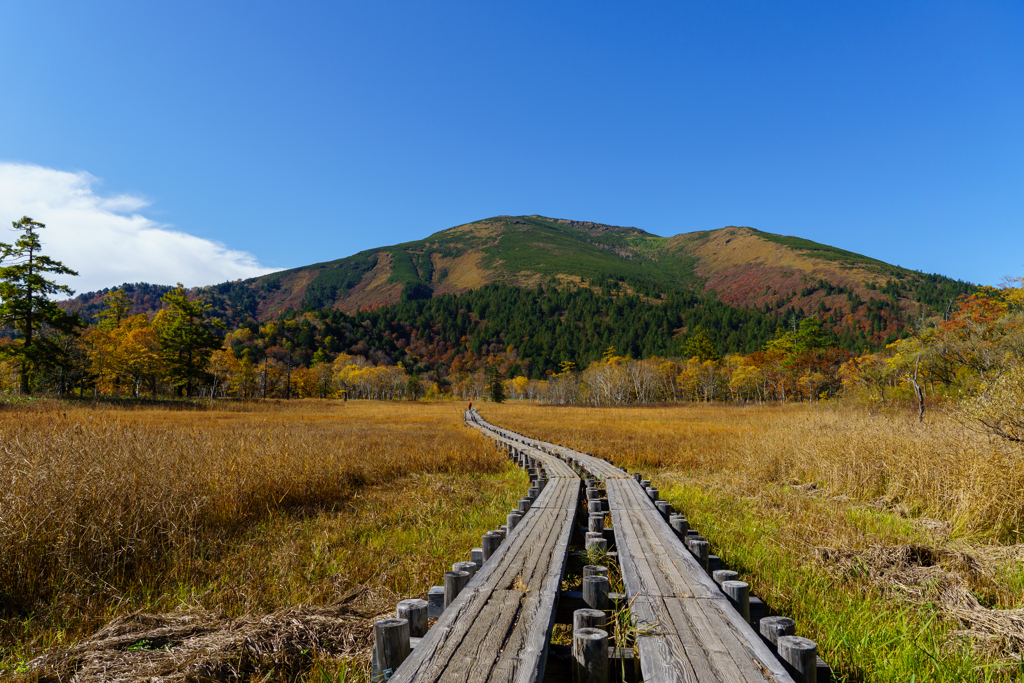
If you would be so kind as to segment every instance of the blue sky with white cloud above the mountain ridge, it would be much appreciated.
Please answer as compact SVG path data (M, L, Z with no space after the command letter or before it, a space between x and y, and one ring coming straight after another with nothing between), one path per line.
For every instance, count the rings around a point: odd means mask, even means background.
M1019 1L15 0L0 92L0 221L80 291L531 213L1024 274Z

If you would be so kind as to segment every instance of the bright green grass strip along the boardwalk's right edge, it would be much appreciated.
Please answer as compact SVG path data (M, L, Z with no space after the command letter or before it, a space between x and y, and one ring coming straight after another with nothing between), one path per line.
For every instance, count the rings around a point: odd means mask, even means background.
M786 520L766 514L768 506L696 484L663 488L662 496L711 542L725 566L751 584L771 613L793 617L797 635L818 643L834 680L1004 681L1021 673L1016 665L977 654L934 610L887 597L862 581L838 581L808 561L806 548L785 545ZM865 537L921 541L920 531L894 515L862 509L849 515Z

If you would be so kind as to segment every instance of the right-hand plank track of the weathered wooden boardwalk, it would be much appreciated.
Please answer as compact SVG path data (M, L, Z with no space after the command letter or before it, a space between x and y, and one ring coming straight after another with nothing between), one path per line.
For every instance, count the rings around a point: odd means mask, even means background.
M637 646L645 682L792 683L632 476L599 458L479 424L496 438L519 439L603 481L623 582L642 634Z

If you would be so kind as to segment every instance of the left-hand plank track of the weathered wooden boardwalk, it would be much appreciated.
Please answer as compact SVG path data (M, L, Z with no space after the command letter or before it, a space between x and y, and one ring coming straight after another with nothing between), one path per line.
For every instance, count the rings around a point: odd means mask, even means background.
M467 424L485 430L475 417L467 413ZM395 683L534 683L544 678L581 480L559 458L513 440L511 434L487 435L537 460L548 483L394 672L390 680Z

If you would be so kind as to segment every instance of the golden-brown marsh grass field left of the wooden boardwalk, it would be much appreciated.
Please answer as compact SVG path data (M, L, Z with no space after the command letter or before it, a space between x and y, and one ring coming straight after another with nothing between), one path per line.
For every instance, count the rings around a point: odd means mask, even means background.
M0 669L136 609L422 595L525 481L459 407L364 401L8 408L0 480Z

